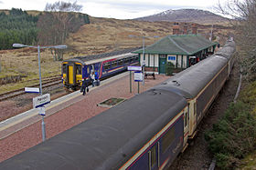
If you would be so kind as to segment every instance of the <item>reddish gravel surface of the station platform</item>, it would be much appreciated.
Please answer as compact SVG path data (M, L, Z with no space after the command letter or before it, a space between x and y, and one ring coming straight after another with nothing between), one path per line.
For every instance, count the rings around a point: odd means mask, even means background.
M169 78L169 76L156 75L155 80L146 79L145 85L140 85L140 92L160 84L167 78ZM97 104L106 99L111 97L130 98L135 95L137 93L137 83L133 82L133 93L130 94L129 80L129 75L126 75L115 82L94 88L89 92L89 94L80 95L79 102L74 105L70 105L54 115L46 117L45 124L47 138L58 135L70 127L78 125L89 119L91 116L98 115L102 111L108 109L106 107L97 106ZM7 107L5 108L5 105L2 105L1 108L8 110L9 105L6 106ZM24 107L26 107L26 105ZM0 162L27 150L29 147L41 143L41 141L41 122L39 121L33 125L28 125L15 134L9 135L5 139L0 140Z

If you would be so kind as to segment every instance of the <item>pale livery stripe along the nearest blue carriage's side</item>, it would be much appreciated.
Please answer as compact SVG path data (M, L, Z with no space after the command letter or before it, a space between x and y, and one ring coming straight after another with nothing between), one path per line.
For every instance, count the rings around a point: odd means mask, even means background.
M185 107L186 108L186 107ZM155 142L162 136L165 134L165 132L171 128L176 121L181 118L183 116L183 112L185 110L185 108L179 113L177 114L167 125L165 125L165 127L160 130L148 143L146 143L135 155L133 155L121 168L119 168L120 170L123 169L129 169L136 160L138 160L142 155L144 155L144 153L149 149L149 147L151 145L154 145Z

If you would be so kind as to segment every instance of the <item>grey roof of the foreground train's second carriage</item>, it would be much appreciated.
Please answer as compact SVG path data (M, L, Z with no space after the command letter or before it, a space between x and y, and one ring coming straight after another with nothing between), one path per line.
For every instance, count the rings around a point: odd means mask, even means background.
M211 55L154 88L172 91L187 99L194 98L226 64L227 59L225 57Z

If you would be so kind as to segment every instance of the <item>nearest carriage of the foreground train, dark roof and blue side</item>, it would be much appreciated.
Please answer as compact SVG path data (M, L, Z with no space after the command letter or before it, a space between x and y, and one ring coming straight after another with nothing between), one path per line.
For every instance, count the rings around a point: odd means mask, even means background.
M6 160L0 169L163 169L183 148L186 108L180 95L146 91Z

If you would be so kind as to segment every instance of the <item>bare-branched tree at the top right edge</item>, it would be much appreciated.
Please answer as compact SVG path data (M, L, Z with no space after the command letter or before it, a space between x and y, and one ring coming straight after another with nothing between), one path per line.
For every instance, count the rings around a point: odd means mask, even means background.
M256 0L229 0L219 5L219 12L229 15L235 28L240 64L249 80L256 78Z

